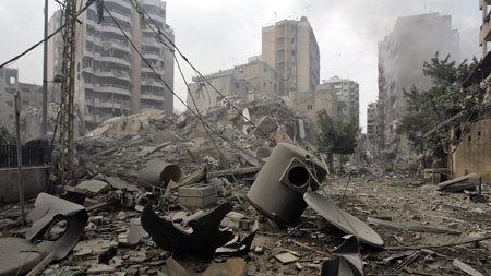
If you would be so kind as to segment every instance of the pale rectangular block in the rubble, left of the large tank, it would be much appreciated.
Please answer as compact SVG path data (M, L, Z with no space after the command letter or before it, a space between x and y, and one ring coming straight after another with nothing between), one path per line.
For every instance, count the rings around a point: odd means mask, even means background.
M218 200L216 187L194 184L179 188L179 204L185 208L206 208Z

